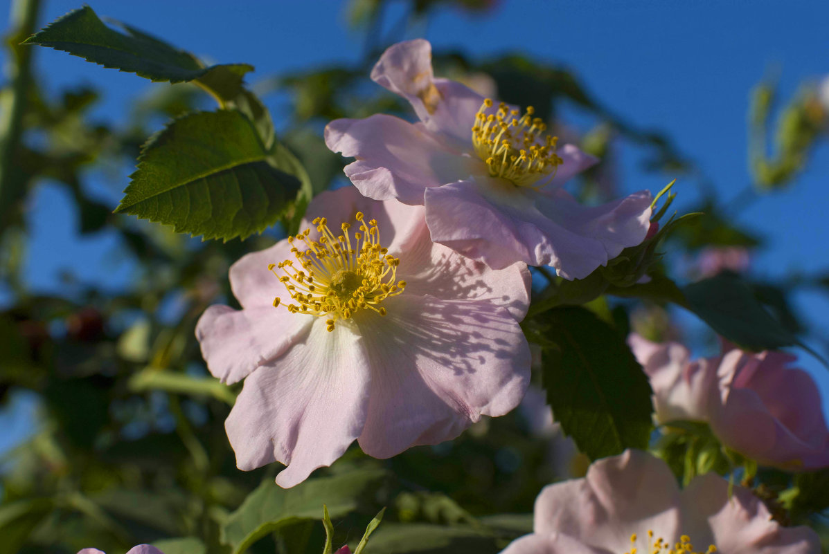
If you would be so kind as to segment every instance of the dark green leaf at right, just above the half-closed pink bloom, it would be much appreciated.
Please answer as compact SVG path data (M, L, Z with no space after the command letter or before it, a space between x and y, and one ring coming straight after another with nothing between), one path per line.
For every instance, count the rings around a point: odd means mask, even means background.
M779 349L800 344L760 305L749 283L731 273L684 288L688 305L718 334L744 349Z

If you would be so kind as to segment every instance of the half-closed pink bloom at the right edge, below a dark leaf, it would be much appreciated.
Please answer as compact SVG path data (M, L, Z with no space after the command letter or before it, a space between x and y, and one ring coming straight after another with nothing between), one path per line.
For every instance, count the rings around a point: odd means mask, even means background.
M829 466L820 393L808 373L788 367L794 356L725 345L720 356L691 361L681 344L628 342L651 379L659 422L707 422L723 445L764 465Z

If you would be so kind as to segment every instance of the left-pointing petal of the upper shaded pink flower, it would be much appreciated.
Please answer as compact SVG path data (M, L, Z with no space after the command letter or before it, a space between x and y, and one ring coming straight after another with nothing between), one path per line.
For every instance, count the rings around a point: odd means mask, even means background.
M463 157L428 133L399 118L377 113L365 119L336 119L325 128L333 152L356 157L346 175L363 195L422 205L424 190L469 175L477 158Z

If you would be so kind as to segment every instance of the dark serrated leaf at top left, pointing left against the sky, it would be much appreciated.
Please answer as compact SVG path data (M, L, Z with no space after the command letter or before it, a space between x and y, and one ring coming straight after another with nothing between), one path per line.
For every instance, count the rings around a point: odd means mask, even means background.
M114 22L124 32L104 25L89 6L67 13L23 44L48 46L104 67L134 73L153 81L201 83L217 96L230 99L240 93L242 77L254 68L246 64L205 67L188 52L178 50L131 26Z

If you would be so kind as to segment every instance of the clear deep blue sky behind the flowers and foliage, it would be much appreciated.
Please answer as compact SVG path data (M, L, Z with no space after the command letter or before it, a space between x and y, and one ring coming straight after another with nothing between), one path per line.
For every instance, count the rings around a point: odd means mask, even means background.
M268 75L355 63L361 57L362 38L348 30L341 2L90 0L90 6L99 15L128 22L207 60L251 63L256 72L249 80L254 83ZM394 26L402 6L396 4L387 12L385 29ZM80 0L43 0L42 23L75 7L80 7ZM2 28L7 26L5 17L0 13ZM699 162L720 198L729 199L749 184L749 89L776 71L781 98L787 99L798 84L829 74L827 21L825 0L504 1L482 16L453 10L436 14L416 35L399 38L424 36L436 49L451 47L481 58L521 51L568 66L614 113L639 128L667 131L681 152ZM36 52L36 68L52 91L79 83L101 90L104 101L95 114L111 121L122 120L139 94L165 86L47 49ZM285 113L274 99L269 105L279 127ZM629 144L622 144L619 154L624 191L659 190L672 178L644 174L641 152ZM125 168L119 178L94 176L91 183L114 205L127 175ZM677 183L680 208L698 197L696 187L691 179ZM756 229L768 241L768 248L754 258L754 274L829 273L827 188L829 147L824 142L788 190L768 195L739 214L739 224ZM119 256L117 238L80 238L61 187L39 190L32 199L30 221L33 239L27 272L33 289L60 290L59 276L66 268L81 281L103 287L129 282L130 264ZM800 293L797 305L812 325L829 329L827 294ZM829 354L826 344L814 345ZM823 397L829 399L827 369L806 354L802 362L819 378Z

